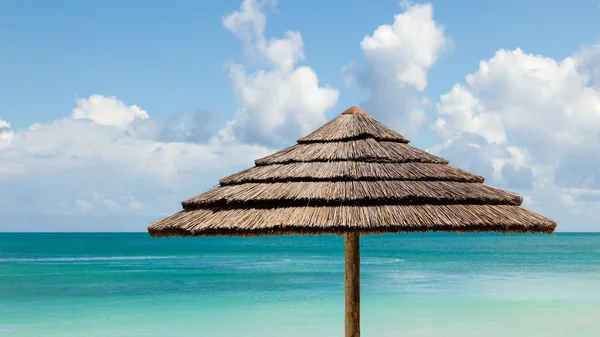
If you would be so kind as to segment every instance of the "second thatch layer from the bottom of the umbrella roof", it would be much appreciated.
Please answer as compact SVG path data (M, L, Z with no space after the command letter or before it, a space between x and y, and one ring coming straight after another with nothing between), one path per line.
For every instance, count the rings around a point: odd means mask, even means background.
M255 207L304 204L492 204L516 205L523 198L485 184L455 181L337 181L246 183L214 188L184 201L184 209L235 204Z

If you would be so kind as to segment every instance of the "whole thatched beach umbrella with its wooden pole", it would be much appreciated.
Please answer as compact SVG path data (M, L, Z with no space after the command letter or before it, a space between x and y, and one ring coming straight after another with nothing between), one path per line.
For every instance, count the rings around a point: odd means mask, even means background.
M346 336L360 336L360 234L552 233L517 194L408 145L357 107L298 144L182 202L148 227L161 236L344 235Z

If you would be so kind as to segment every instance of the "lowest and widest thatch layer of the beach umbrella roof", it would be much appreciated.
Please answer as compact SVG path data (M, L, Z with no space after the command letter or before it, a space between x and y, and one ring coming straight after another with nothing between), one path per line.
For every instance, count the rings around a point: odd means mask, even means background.
M232 225L232 224L235 224ZM339 234L360 232L551 233L548 219L520 206L409 205L207 208L181 211L149 228L153 236Z

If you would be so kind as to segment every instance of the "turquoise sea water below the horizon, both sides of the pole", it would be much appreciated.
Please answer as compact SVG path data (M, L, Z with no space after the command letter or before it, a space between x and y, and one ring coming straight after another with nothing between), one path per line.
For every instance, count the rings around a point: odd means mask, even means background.
M600 336L600 234L361 240L362 336ZM343 238L0 234L0 336L343 336Z

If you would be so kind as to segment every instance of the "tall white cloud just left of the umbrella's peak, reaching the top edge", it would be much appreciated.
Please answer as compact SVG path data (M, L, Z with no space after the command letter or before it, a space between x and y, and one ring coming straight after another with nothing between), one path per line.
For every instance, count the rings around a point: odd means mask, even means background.
M299 66L304 43L299 32L267 39L264 7L268 2L244 0L240 10L223 18L223 26L244 42L246 54L265 66L249 72L230 68L239 110L223 133L250 143L286 144L323 124L339 91L319 83L310 67Z

